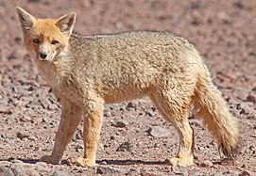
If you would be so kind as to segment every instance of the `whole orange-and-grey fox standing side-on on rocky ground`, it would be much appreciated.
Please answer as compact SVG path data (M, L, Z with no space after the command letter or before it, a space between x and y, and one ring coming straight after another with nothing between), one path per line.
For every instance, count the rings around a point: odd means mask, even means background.
M112 35L72 34L76 12L60 19L36 19L17 8L28 51L60 104L60 126L50 156L41 161L58 164L84 120L81 166L94 166L104 104L148 96L162 117L179 132L174 166L194 163L194 134L189 110L203 120L220 152L233 156L238 127L221 92L213 85L196 48L168 32L125 32Z

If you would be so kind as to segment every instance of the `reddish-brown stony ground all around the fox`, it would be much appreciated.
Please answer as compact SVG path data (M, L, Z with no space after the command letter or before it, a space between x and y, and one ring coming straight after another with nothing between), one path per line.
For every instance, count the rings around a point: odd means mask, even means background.
M80 34L167 30L195 43L239 121L240 152L221 160L212 136L191 119L196 165L172 167L178 134L148 99L108 104L97 167L69 166L82 156L82 125L60 165L38 162L53 148L60 105L26 55L15 7L37 17L76 10ZM256 1L0 1L0 175L256 175Z

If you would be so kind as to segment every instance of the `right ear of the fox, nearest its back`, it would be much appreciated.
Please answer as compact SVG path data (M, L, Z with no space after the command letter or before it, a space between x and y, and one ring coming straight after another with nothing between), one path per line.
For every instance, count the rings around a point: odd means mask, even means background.
M56 25L60 28L61 32L70 36L73 31L74 24L76 22L76 16L77 13L75 11L68 13L60 17Z

